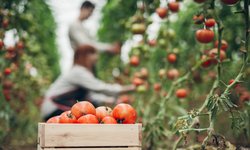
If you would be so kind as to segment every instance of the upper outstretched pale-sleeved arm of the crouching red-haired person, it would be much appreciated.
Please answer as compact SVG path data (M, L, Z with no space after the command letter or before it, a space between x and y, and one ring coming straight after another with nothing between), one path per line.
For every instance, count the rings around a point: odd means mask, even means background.
M134 86L121 86L119 84L105 83L93 76L91 72L83 67L75 66L71 72L71 82L90 91L104 93L107 95L118 95L120 93L134 90Z

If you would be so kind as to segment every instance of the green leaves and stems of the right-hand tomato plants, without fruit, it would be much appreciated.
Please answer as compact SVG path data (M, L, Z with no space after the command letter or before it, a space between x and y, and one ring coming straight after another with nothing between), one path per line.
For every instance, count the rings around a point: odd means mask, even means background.
M150 14L158 6L159 4L156 4L155 1L148 2L145 13L138 9L134 16L127 19L127 24L131 25L131 20L138 17L138 14L143 16L144 20L150 20ZM112 7L113 9L115 8ZM247 142L249 136L244 135L250 131L247 127L249 122L248 105L242 103L244 97L240 89L234 88L235 85L228 85L230 79L238 80L240 78L237 83L240 82L244 87L243 91L249 93L249 66L245 68L244 75L240 69L245 63L241 57L243 54L239 51L243 47L241 40L245 39L245 23L242 14L234 13L236 10L242 10L242 3L226 6L218 0L208 0L202 4L183 1L181 10L177 14L169 11L169 18L172 19L162 20L156 46L150 46L147 43L147 35L144 34L144 41L131 49L130 56L137 55L140 58L138 66L119 67L121 65L117 63L118 60L107 62L107 57L102 60L102 64L106 63L104 70L112 70L110 66L129 70L129 77L121 75L121 78L126 81L131 81L135 76L140 77L138 74L142 68L147 68L149 71L149 77L143 78L145 82L143 86L146 90L138 90L141 87L139 86L137 92L133 94L135 99L133 105L138 111L138 116L143 118L144 149L172 148L175 133L180 138L175 140L177 144L174 148L181 145L180 142L190 145L197 143L193 139L198 139L199 135L206 137L199 141L200 144L206 146L209 143L208 140L212 140L212 137L220 131L224 132L222 134L226 136L226 139L230 139L234 143L238 142L238 137L243 138L245 143L249 143ZM104 16L112 18L114 14L107 12L107 10L104 11ZM211 28L215 33L215 38L209 44L199 43L195 38L196 31L204 28L204 24L198 25L193 21L193 16L198 14L202 14L205 18L213 17L219 21L216 27ZM201 57L207 56L207 51L214 48L215 40L219 39L218 28L221 26L224 28L222 39L229 44L229 48L226 50L227 59L219 65L215 63L208 68L202 67L204 60ZM109 31L111 30L106 30L106 32ZM121 31L124 32L122 35L131 34L129 28L126 31ZM112 37L118 38L120 33L113 32ZM125 36L126 38L129 36ZM124 38L121 39L124 41ZM167 61L166 56L170 53L176 54L177 61L175 63ZM109 63L113 64L108 65ZM168 71L172 68L179 71L177 80L159 77L160 69ZM246 82L242 83L241 80ZM160 91L154 90L154 83L160 83L162 89ZM188 97L185 99L177 98L175 91L178 88L188 89ZM167 92L167 96L163 96L164 92ZM220 116L220 114L223 115ZM182 117L179 117L180 115ZM228 120L229 118L231 120ZM230 123L232 123L233 130L230 130ZM190 133L191 131L195 131L195 135ZM238 136L232 137L233 132L236 131ZM187 141L187 139L192 140Z

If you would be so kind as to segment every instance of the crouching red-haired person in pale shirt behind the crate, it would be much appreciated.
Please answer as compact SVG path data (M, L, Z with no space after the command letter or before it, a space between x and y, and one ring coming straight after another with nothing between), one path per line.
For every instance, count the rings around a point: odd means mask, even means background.
M99 106L115 103L119 94L135 90L133 85L108 84L97 79L93 74L97 59L97 50L90 45L76 50L71 70L60 75L45 94L41 108L44 120L70 110L77 100L89 100Z

